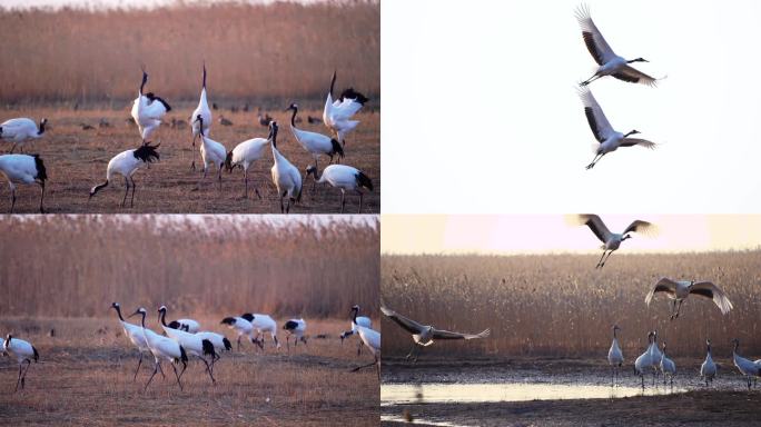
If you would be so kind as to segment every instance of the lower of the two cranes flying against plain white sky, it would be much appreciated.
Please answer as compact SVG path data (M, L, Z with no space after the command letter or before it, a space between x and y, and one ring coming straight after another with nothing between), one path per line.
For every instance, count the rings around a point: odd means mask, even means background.
M603 158L603 156L609 152L613 152L619 149L619 147L645 147L650 149L655 148L655 142L648 141L640 138L629 138L630 135L640 133L639 130L631 130L627 133L622 133L613 129L611 123L605 118L605 113L594 99L592 91L587 88L582 88L579 90L579 97L582 99L584 105L584 115L586 116L586 121L590 123L592 129L592 135L594 139L597 140L600 145L594 146L594 158L592 162L586 166L586 169L592 169L594 166Z

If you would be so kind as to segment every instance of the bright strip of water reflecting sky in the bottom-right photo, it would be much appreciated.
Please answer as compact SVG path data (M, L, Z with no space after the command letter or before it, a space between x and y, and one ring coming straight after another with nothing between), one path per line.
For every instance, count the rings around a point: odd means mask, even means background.
M384 384L381 405L610 399L685 391L681 388L611 387L567 384Z

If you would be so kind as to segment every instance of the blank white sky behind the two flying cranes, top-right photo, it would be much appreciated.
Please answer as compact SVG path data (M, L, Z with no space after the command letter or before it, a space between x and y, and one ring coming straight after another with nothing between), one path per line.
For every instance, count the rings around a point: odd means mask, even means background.
M589 1L616 53L668 75L591 85L663 145L590 171L580 3L382 2L384 214L761 211L761 2Z

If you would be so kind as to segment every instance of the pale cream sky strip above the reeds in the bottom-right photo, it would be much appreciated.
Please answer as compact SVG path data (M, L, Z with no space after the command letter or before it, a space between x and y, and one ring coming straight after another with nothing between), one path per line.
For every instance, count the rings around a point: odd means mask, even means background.
M626 252L761 249L761 215L603 215L613 232L634 219L655 224L659 234L634 234ZM599 252L587 227L563 215L384 215L384 254Z

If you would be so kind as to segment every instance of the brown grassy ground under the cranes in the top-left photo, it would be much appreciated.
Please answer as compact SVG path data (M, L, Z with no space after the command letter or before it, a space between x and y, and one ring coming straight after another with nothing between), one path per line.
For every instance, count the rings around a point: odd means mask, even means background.
M314 102L313 102L314 103ZM220 102L224 105L224 102ZM315 103L316 105L316 103ZM131 105L130 105L131 106ZM278 149L290 160L304 177L304 170L314 163L312 155L302 148L294 139L289 128L289 115L283 112L287 107L266 111L278 120ZM233 173L223 172L223 190L218 190L217 176L209 172L200 190L194 191L198 183L202 165L198 141L196 142L197 170L190 169L194 150L191 132L187 119L195 106L178 106L165 117L165 123L151 137L152 142L159 142L160 162L150 168L138 171L135 176L137 192L135 206L119 207L123 197L123 180L118 177L116 182L101 190L88 200L89 190L106 178L106 167L111 157L119 152L137 148L141 143L137 127L127 123L129 107L119 110L111 109L58 109L21 108L14 110L0 109L0 119L13 117L30 117L39 120L49 119L50 129L43 138L27 143L24 152L39 153L48 171L46 188L46 209L50 214L279 214L279 199L271 182L270 168L273 157L269 150L249 170L249 197L244 199L243 170L235 169ZM264 113L265 111L263 111ZM257 119L256 108L248 112L238 110L213 111L215 122L211 125L210 138L221 142L229 151L239 142L250 138L266 138L268 130L261 127ZM221 126L219 117L233 121L233 126ZM297 127L328 135L322 123L309 125L307 116L322 118L322 109L299 109L303 119ZM184 127L171 128L171 119L184 122ZM106 120L110 127L99 127ZM357 115L362 123L357 130L347 137L344 147L346 157L342 163L363 170L373 180L375 190L366 193L363 214L378 214L381 211L381 112L368 108ZM95 127L82 130L80 123ZM0 151L8 152L11 145L1 142ZM17 151L18 152L18 148ZM328 165L329 159L323 156L318 162L320 170ZM259 189L263 199L254 192L254 186ZM328 185L318 186L312 191L312 178L304 186L303 198L291 210L291 214L338 214L340 210L340 190ZM346 214L358 212L358 196L346 196ZM37 186L19 186L17 190L17 214L36 214L39 202ZM0 212L10 209L10 191L7 185L0 188Z

